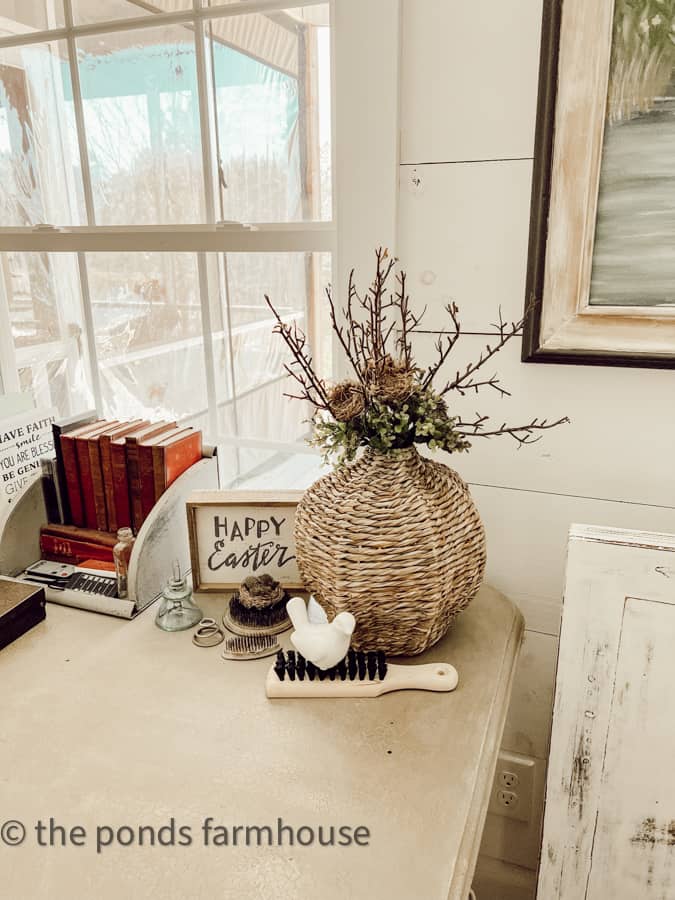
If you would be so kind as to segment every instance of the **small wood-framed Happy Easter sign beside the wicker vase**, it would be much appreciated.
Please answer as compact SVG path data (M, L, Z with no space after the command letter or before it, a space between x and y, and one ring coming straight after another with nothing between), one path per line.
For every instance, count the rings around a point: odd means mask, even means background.
M227 591L264 572L304 589L295 557L295 510L302 491L195 491L187 502L196 591Z

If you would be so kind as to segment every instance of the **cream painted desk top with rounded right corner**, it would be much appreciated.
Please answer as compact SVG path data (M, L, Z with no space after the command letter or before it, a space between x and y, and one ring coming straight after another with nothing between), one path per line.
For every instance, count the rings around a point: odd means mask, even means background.
M48 605L0 652L0 828L27 828L21 846L0 844L0 896L466 900L522 635L507 599L483 587L419 658L455 665L454 693L375 700L268 701L270 660L225 662L154 615ZM83 826L86 845L38 846L50 816ZM97 825L172 816L191 846L96 852ZM207 816L229 829L364 825L370 843L205 847Z

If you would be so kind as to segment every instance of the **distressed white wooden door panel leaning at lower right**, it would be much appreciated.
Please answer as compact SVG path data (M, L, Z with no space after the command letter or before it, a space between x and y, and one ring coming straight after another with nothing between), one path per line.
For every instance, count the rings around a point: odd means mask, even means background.
M674 637L675 537L573 526L542 900L672 896Z

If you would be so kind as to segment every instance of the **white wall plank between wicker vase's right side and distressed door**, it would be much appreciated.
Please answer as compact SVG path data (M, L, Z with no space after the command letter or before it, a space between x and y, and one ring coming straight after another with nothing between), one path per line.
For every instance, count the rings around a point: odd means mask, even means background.
M450 464L461 471L461 456ZM675 510L471 485L487 533L486 580L518 604L526 628L557 635L572 522L675 532Z

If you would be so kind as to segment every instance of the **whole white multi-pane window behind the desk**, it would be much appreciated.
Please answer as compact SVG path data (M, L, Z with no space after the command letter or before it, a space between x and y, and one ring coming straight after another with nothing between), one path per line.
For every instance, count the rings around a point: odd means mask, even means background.
M4 391L304 435L264 295L328 373L331 5L291 2L2 0Z

